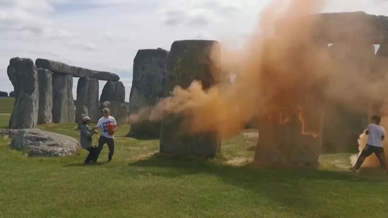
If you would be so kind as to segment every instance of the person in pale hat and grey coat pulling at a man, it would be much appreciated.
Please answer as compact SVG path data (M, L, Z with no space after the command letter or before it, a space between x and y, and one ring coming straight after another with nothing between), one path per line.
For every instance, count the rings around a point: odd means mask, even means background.
M95 154L97 148L92 143L92 136L98 133L95 128L90 129L90 118L88 116L82 119L80 125L80 144L81 148L86 149L89 154L85 159L85 164L90 164L91 161L96 162Z

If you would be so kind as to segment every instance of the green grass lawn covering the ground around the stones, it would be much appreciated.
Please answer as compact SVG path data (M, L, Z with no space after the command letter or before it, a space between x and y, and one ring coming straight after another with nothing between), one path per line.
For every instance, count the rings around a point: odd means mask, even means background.
M6 126L9 115L0 114ZM78 139L76 124L38 126ZM258 170L255 138L242 135L222 145L209 161L160 156L158 140L123 138L120 126L111 163L107 147L99 164L72 157L29 158L0 137L0 217L189 218L386 217L387 177L352 174L349 154L324 155L319 170ZM95 137L95 140L97 136Z

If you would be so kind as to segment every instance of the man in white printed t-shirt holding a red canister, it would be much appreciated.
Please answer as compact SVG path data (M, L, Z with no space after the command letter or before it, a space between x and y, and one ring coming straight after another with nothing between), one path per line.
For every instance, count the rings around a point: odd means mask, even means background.
M113 152L114 152L114 136L113 136L113 134L117 130L117 127L116 127L117 123L116 123L116 119L114 119L113 116L109 116L109 109L104 108L103 111L104 111L104 116L99 119L99 121L96 125L96 127L101 130L101 135L100 135L100 138L98 140L98 147L97 147L94 161L97 161L97 159L100 155L100 152L102 150L102 147L104 147L104 145L107 144L108 149L109 149L108 162L110 162L112 160ZM111 133L111 135L109 134L109 131L108 131L108 123L113 124L113 132Z

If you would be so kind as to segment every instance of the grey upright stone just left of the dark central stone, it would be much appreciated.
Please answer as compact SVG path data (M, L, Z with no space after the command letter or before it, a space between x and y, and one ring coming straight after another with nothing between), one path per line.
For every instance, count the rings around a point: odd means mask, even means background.
M133 81L129 96L129 111L151 109L163 97L163 87L168 76L168 51L161 48L139 50L133 60ZM149 114L144 114L148 116ZM127 137L159 138L160 121L145 118L131 124Z

